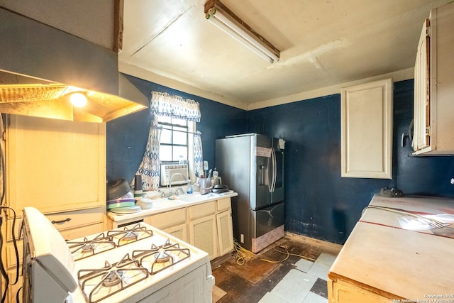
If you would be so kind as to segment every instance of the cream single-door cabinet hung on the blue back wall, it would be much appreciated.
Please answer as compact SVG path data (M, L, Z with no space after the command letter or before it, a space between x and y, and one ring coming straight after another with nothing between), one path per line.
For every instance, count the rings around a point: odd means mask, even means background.
M341 176L392 179L392 79L341 89Z

